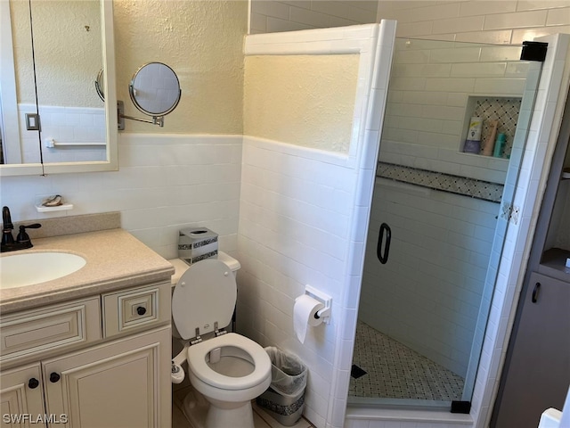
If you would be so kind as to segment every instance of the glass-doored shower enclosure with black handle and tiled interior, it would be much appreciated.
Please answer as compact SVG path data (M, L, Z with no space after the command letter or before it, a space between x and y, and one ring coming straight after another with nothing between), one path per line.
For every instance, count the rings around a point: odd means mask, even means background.
M351 404L468 413L540 78L521 51L396 38ZM466 147L472 117L492 156Z

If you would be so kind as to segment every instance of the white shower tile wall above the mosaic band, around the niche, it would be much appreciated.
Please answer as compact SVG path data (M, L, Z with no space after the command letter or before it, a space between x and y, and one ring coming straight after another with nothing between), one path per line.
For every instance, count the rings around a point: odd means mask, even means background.
M466 105L469 95L521 97L528 63L519 55L517 47L396 39L380 161L504 183L509 161L461 152L474 113Z

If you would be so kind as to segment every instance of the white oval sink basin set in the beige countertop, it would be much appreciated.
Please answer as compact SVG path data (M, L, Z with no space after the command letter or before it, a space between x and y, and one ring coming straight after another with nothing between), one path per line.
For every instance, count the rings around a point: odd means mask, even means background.
M0 257L0 289L52 281L85 266L85 259L67 252L28 252Z

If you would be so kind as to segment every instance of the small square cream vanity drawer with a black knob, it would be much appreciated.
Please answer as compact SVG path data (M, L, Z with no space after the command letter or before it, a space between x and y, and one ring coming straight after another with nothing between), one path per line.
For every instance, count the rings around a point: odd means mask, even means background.
M102 295L103 335L111 337L170 321L170 283Z

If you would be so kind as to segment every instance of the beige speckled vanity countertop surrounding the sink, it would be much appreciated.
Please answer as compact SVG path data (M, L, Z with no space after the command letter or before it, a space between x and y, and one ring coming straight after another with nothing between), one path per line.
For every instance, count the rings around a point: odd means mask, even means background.
M33 239L34 247L5 252L2 257L26 252L60 251L77 254L85 267L68 276L41 284L0 289L0 312L77 299L138 284L170 281L175 268L166 259L123 229ZM33 269L30 266L30 269Z

